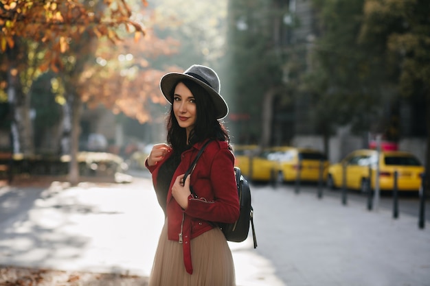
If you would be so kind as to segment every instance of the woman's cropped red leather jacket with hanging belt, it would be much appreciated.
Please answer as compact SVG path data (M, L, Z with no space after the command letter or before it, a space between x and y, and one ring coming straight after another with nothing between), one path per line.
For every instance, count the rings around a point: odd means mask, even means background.
M190 195L188 207L183 210L172 197L172 184L175 178L185 174L203 144L204 142L196 143L183 152L167 195L168 239L183 243L185 269L190 274L192 274L191 239L212 229L214 227L212 222L232 223L239 217L238 192L233 170L234 155L228 149L228 143L224 141L209 143L190 175L190 185L199 198ZM159 167L168 156L154 166L148 166L146 162L154 185L157 184Z

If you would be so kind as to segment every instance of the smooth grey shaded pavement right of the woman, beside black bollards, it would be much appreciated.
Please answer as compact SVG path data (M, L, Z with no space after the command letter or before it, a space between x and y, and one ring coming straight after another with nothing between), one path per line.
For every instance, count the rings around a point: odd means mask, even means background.
M294 186L253 187L258 252L288 286L429 286L430 230L418 218ZM430 210L427 210L430 211Z

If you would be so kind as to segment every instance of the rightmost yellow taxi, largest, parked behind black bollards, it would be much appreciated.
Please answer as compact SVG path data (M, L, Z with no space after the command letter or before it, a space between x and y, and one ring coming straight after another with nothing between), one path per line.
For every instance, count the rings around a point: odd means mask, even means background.
M394 171L398 172L398 191L418 191L424 166L410 152L356 150L348 154L339 163L328 168L327 187L335 189L343 186L343 174L346 174L347 189L366 191L367 180L371 176L371 188L376 187L376 164L379 163L379 189L394 189ZM345 169L344 169L345 168Z

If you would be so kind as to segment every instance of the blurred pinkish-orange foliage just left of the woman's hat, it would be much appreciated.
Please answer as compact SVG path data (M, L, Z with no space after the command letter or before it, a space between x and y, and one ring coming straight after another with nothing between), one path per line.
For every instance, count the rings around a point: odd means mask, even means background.
M178 46L177 40L156 38L150 29L139 45L126 39L115 49L106 49L100 43L95 53L99 64L89 64L80 78L82 101L89 108L104 104L115 114L123 112L141 123L151 121L148 105L167 103L159 90L161 76L180 68L153 69L147 59L175 53Z

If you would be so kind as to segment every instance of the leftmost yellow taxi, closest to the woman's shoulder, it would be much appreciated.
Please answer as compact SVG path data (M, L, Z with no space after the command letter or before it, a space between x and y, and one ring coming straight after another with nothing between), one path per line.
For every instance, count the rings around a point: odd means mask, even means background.
M268 182L277 169L272 153L270 150L260 151L258 145L234 146L235 165L248 180Z

